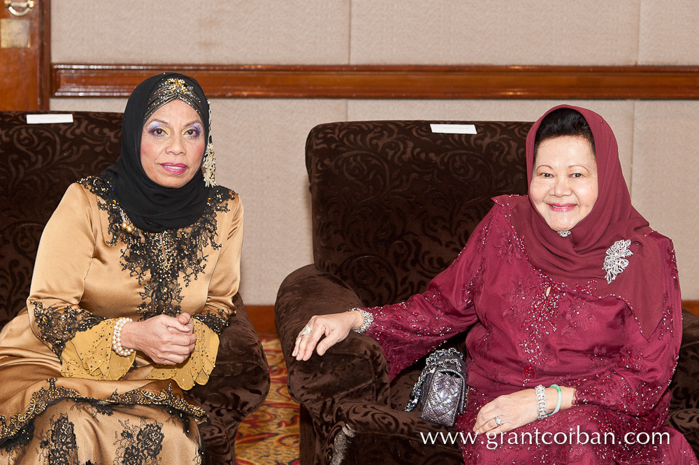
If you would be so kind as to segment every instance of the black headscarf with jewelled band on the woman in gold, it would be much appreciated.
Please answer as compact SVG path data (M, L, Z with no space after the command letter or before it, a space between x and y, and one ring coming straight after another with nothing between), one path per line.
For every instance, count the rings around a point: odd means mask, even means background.
M152 97L161 83L171 78L184 80L187 88L194 92L199 100L197 103L200 108L196 108L189 101L182 99L199 113L205 131L204 140L210 141L209 104L199 83L179 73L151 76L140 83L129 96L122 120L121 155L117 162L103 173L110 181L114 197L129 220L138 229L150 232L186 227L196 222L206 207L210 191L201 174L195 174L194 178L182 187L161 186L148 178L140 163L143 124L154 109L171 101L162 101L154 106ZM150 114L147 115L147 112Z

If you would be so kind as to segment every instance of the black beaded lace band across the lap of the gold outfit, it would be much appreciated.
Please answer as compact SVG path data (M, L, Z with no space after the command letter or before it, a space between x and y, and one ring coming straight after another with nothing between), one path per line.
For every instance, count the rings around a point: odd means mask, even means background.
M185 417L189 415L194 417L197 423L206 422L206 412L191 403L185 401L181 397L175 396L172 390L172 385L168 384L167 389L161 389L159 392L146 391L145 389L134 389L133 391L119 394L114 392L107 399L93 399L92 397L82 396L73 389L66 387L57 387L56 378L48 378L48 389L41 387L38 391L31 394L29 407L24 412L17 413L8 420L4 415L0 415L0 447L12 447L17 445L19 438L22 438L21 443L26 443L24 436L31 435L34 419L41 415L48 407L62 401L64 399L72 399L75 402L89 402L100 409L108 409L113 403L121 403L126 405L142 405L142 406L161 406L168 409L168 412L180 412L176 417ZM187 423L188 425L189 423ZM29 436L31 438L31 436Z

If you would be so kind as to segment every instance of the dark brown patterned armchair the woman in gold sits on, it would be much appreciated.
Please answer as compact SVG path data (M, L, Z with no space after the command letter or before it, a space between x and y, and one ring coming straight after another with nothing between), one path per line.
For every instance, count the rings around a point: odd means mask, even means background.
M121 113L73 119L27 124L24 112L0 112L0 328L24 306L41 231L66 188L119 156ZM238 425L269 391L267 360L240 294L236 308L209 382L189 392L210 418L201 427L207 464L235 464Z

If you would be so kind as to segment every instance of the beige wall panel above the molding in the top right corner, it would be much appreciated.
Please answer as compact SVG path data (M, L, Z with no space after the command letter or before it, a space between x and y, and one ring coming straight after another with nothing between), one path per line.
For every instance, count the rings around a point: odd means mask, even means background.
M638 64L699 64L699 2L642 0Z

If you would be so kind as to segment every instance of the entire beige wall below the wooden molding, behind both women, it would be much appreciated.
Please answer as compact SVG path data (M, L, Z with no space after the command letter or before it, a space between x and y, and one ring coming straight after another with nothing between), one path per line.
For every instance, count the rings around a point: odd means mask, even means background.
M52 110L122 111L125 99L52 99ZM338 120L535 120L557 101L217 99L212 103L219 183L240 192L246 231L241 291L271 304L281 280L312 261L304 144ZM675 241L684 299L699 299L699 103L574 101L605 117L619 141L634 205ZM633 118L636 117L634 127ZM631 151L633 148L633 178ZM677 199L689 199L678 202Z

